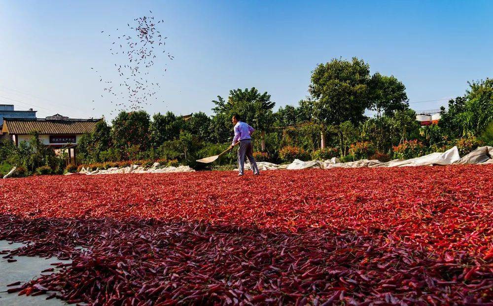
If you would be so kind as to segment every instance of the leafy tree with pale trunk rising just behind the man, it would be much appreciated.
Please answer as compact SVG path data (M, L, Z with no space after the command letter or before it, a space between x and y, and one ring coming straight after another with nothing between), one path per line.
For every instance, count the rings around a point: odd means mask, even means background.
M214 117L219 115L222 120L229 121L233 114L238 114L245 122L259 130L262 151L265 151L265 131L274 121L272 109L275 103L271 101L271 95L267 92L260 94L255 87L245 90L238 88L229 91L227 102L220 96L212 102L216 105L212 109ZM228 122L224 123L226 126L230 125Z

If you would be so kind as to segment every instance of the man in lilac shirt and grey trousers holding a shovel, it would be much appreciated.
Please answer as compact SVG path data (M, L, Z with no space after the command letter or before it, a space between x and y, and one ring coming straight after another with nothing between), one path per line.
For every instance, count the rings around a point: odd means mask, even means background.
M231 121L235 125L233 130L235 131L235 137L233 137L233 143L231 144L231 148L240 141L240 147L238 148L238 169L240 169L240 173L238 176L243 175L243 168L245 166L245 156L248 158L250 162L250 167L253 170L254 175L259 175L257 163L253 158L253 144L251 143L251 134L253 133L253 127L249 126L245 122L240 121L239 115L233 115Z

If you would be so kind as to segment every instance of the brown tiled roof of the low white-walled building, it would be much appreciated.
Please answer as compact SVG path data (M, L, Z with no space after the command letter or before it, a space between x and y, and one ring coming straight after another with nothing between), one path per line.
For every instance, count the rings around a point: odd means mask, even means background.
M35 119L3 117L2 133L22 135L38 131L40 134L84 134L92 132L100 120L70 119L58 114Z

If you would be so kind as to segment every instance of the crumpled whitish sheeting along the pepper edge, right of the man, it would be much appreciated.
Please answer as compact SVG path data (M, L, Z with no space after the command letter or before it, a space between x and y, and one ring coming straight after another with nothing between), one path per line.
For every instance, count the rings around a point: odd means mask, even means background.
M431 153L421 157L412 159L394 159L388 162L379 160L356 160L349 162L340 162L337 157L332 159L302 161L295 159L288 165L277 165L270 162L257 162L260 170L300 170L307 168L332 169L332 168L364 168L364 167L416 167L416 166L432 166L432 165L454 165L454 164L493 164L493 147L480 147L473 152L463 156L459 156L457 147L449 149L443 153ZM245 165L246 170L250 170L250 165ZM238 169L236 169L238 170Z

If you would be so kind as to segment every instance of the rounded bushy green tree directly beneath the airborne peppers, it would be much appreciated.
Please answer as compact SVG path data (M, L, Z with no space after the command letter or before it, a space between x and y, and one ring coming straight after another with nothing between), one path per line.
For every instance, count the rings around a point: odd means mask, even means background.
M145 111L120 112L111 123L111 139L116 147L139 146L140 150L149 147L150 117Z

